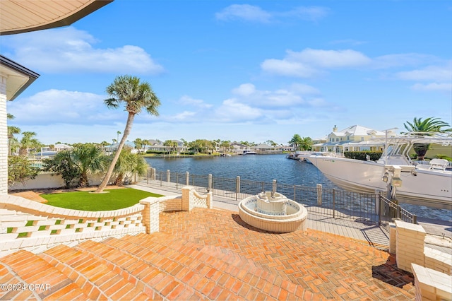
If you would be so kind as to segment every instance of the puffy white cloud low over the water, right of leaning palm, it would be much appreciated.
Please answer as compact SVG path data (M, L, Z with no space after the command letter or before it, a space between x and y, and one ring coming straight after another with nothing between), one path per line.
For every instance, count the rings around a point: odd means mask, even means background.
M160 115L160 122L237 122L278 123L283 119L298 119L299 110L309 107L328 105L320 92L311 85L294 83L287 88L277 90L259 90L253 83L242 83L231 90L232 97L223 100L218 106L207 105L203 100L196 100L189 95L179 99L179 104L190 105L195 110L185 110L175 114ZM206 110L208 109L208 110ZM146 119L148 117L141 117Z

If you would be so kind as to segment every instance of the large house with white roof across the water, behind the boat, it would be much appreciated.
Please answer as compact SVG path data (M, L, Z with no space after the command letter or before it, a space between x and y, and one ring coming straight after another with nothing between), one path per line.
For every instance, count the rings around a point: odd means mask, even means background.
M389 132L389 135L392 135ZM331 153L344 153L345 151L383 151L384 143L371 141L371 138L384 138L384 131L369 129L364 126L353 125L338 131L334 126L325 143L316 143L313 151L326 151Z

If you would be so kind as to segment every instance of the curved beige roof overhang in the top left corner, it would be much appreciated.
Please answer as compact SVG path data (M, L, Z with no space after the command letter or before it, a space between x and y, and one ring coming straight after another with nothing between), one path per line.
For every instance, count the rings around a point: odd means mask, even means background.
M71 25L113 0L0 1L0 35Z

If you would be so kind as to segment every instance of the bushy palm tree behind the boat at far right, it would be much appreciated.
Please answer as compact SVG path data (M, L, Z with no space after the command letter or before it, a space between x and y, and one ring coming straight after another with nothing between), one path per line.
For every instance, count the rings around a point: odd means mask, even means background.
M406 124L403 124L405 126L405 129L408 130L408 132L417 132L419 135L425 135L428 136L429 133L446 133L452 131L451 128L444 129L446 126L450 126L446 122L443 122L441 119L436 117L428 117L424 120L422 118L414 118L412 123L406 122ZM403 133L406 134L406 133ZM424 160L425 154L430 148L430 144L425 143L415 143L414 150L417 155L417 160Z

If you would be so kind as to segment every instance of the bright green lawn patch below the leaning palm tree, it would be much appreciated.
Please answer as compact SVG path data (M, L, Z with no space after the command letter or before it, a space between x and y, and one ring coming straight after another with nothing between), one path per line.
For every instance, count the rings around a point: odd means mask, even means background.
M148 191L125 188L109 189L106 194L92 194L90 191L64 192L61 194L41 194L47 199L47 205L83 210L83 211L108 211L127 208L135 205L141 199L148 196L160 197Z

